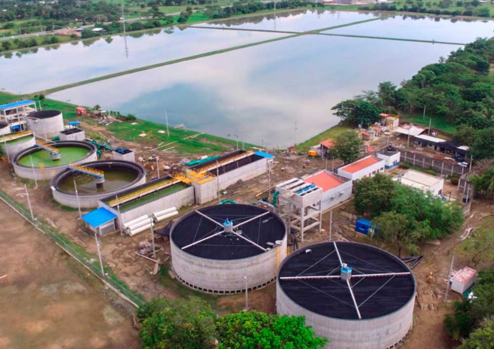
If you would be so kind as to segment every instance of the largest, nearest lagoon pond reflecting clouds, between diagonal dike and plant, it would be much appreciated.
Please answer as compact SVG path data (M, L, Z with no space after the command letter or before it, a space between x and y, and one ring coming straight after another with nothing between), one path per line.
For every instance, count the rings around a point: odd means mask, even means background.
M221 136L286 146L335 125L342 99L399 84L458 48L303 36L71 88L52 98L132 113ZM386 54L382 54L386 52ZM132 86L132 88L128 88ZM294 121L297 120L296 134Z

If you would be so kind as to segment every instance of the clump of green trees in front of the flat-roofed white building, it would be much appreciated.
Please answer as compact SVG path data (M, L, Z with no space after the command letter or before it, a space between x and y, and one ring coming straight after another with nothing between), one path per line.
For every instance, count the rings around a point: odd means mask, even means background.
M417 254L417 244L444 238L463 223L458 205L376 174L355 182L354 205L376 227L373 238Z

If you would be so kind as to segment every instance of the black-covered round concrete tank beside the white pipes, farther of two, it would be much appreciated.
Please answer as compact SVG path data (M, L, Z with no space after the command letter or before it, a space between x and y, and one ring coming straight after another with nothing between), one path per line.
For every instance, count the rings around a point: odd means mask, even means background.
M251 205L215 205L190 212L170 230L178 279L208 293L236 293L276 279L286 257L285 223Z

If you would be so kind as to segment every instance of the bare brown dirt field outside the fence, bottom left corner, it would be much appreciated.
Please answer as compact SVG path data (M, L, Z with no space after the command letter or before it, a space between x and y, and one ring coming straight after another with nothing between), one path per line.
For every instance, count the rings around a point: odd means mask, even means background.
M0 349L139 348L127 305L3 202L0 221Z

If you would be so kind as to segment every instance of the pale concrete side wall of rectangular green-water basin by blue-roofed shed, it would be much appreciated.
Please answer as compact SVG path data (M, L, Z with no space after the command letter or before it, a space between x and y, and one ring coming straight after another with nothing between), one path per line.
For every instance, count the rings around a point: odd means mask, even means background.
M190 186L183 190L177 191L176 193L166 195L162 198L148 202L144 205L138 206L131 210L121 212L120 214L116 207L110 208L103 201L99 201L97 206L104 207L107 210L116 214L118 216L117 227L120 228L121 222L122 224L124 224L125 222L128 222L134 218L143 215L151 216L152 213L165 210L169 207L174 206L178 209L182 206L190 206L193 204L194 204L194 188Z

